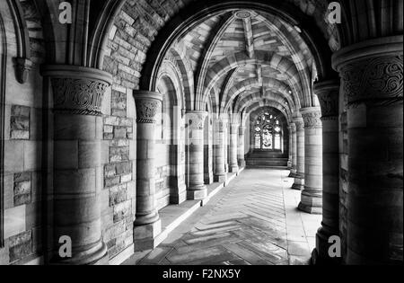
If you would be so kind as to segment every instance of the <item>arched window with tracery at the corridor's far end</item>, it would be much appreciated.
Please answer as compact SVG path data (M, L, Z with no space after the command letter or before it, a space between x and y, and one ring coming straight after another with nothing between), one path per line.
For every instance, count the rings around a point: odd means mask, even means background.
M281 150L282 125L269 111L259 115L254 124L255 149Z

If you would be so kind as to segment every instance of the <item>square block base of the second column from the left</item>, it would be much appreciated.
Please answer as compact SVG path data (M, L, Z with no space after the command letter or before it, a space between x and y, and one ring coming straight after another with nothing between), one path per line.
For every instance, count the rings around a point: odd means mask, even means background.
M153 250L157 246L157 236L162 233L162 220L159 219L152 224L135 226L133 236L135 252Z

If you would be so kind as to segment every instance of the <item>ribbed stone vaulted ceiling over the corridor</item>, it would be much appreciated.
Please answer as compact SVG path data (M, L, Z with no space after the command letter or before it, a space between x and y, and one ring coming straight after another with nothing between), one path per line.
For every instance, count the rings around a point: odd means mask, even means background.
M300 32L267 13L224 11L183 33L166 61L175 55L188 69L188 101L197 110L207 103L219 114L242 112L251 102L271 102L293 115L316 103L316 66Z

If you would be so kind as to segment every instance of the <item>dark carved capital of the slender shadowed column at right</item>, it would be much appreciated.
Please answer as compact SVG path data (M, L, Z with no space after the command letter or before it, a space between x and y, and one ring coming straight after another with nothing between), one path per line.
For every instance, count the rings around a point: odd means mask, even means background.
M321 119L338 119L339 88L339 79L314 84L313 91L321 105Z

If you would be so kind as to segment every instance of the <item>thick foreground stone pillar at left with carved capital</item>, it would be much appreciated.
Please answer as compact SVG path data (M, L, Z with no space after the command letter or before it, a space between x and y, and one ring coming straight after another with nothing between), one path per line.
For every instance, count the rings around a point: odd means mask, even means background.
M108 264L101 237L103 94L112 77L81 66L43 66L54 97L54 208L52 263ZM60 258L59 240L72 241Z

